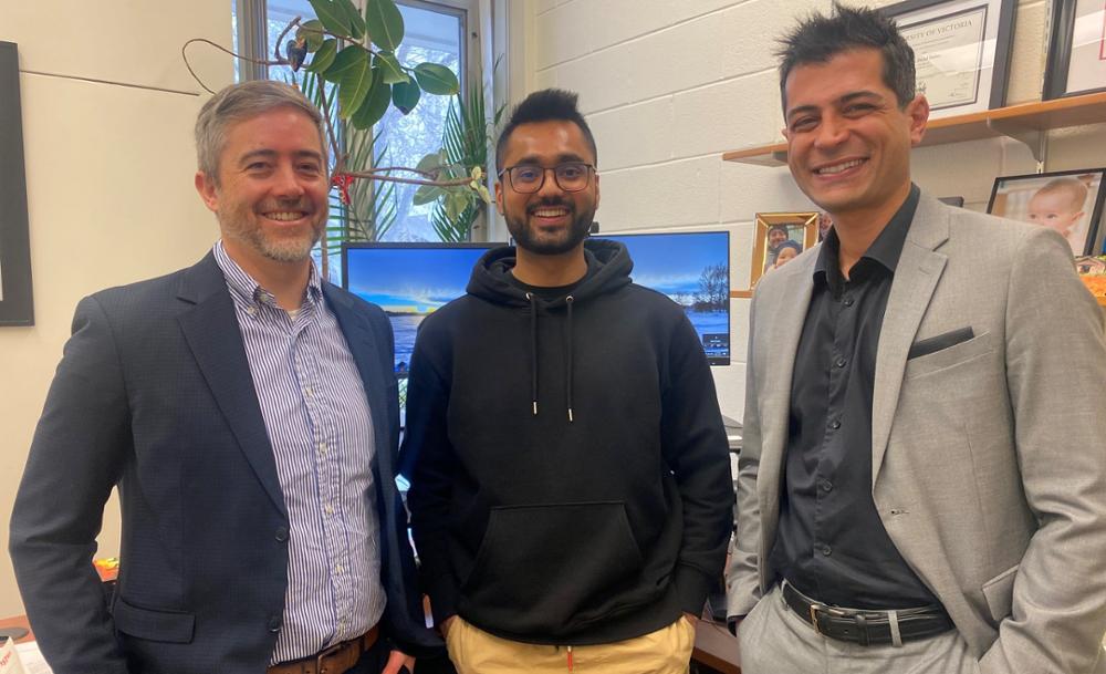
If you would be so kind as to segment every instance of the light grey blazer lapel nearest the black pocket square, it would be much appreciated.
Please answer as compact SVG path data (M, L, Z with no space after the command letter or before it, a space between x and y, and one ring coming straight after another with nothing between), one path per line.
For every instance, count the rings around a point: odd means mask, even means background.
M873 488L884 463L891 423L898 408L906 356L948 261L947 256L936 252L949 238L949 215L945 208L937 199L925 194L921 196L887 298L872 394Z

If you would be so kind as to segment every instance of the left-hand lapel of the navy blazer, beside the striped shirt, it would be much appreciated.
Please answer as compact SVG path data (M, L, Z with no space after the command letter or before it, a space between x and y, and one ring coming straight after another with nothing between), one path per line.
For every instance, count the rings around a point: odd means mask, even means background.
M234 303L213 255L208 253L188 270L177 297L194 305L180 313L177 321L211 395L258 480L281 514L288 517L284 494L276 477L276 459L253 388Z

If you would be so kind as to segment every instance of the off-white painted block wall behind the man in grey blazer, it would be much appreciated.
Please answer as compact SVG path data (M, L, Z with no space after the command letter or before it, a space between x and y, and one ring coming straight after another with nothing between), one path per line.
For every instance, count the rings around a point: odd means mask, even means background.
M891 4L893 0L847 0ZM1040 100L1046 0L1019 0L1008 101ZM785 167L721 160L780 142L773 40L828 0L519 0L511 3L512 97L546 86L581 94L603 175L603 231L726 228L733 288L748 284L758 211L813 205ZM520 41L519 38L522 38ZM1106 126L1053 134L1047 169L1103 165ZM1024 146L979 141L915 151L914 177L984 209L998 175L1033 173ZM714 367L722 412L742 416L748 300L733 300L734 364Z

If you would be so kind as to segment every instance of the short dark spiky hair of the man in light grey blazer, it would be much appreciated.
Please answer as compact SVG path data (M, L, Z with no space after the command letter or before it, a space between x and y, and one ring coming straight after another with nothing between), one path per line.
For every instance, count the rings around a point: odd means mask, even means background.
M899 107L914 101L917 92L914 50L890 17L870 8L833 3L828 17L813 13L779 40L780 100L787 114L787 75L799 65L826 63L854 49L878 49L884 58L884 84L895 92Z

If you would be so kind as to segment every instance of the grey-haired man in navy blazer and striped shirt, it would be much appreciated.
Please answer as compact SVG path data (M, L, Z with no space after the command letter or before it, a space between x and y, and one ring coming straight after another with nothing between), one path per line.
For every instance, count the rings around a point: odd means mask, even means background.
M425 626L394 481L398 402L379 308L319 278L319 112L249 82L197 121L222 239L196 266L76 310L11 522L55 674L395 673ZM118 587L91 560L123 511Z

